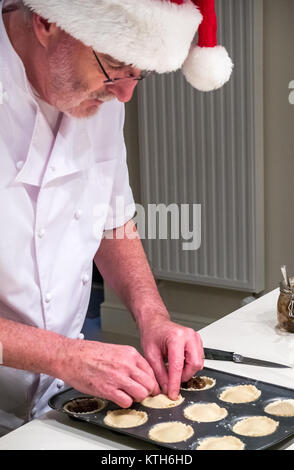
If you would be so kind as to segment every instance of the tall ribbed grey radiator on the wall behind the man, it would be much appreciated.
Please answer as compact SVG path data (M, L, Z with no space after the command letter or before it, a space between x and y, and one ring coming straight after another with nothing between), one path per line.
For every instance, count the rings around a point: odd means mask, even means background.
M171 236L146 236L143 245L157 279L258 293L264 289L263 4L216 4L219 42L235 64L231 81L201 93L176 72L138 88L142 204L146 211L150 204L200 205L200 247L184 250L184 240Z

